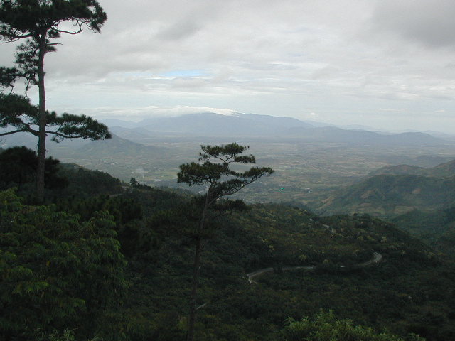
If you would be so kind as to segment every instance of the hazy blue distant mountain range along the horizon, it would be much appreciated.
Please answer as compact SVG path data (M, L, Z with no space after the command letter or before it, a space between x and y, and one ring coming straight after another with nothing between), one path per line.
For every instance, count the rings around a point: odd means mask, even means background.
M213 112L186 114L176 117L154 117L139 122L107 119L102 121L121 137L141 139L154 134L180 136L218 136L291 138L302 141L358 145L432 145L450 144L445 139L420 132L385 134L336 126L311 124L291 117L257 114L223 115Z

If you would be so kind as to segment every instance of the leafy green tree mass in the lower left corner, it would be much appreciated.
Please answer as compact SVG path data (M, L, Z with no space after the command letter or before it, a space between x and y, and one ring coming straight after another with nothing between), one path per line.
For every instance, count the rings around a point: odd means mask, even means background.
M0 193L2 340L31 340L38 329L100 328L126 289L114 227L107 212L80 221L52 206L23 205L11 190Z

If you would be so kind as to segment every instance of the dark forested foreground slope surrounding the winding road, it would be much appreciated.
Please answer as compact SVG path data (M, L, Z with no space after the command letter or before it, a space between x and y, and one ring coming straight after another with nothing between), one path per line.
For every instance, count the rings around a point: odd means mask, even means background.
M60 172L68 187L48 189L53 205L2 194L2 337L48 340L72 330L77 340L183 340L193 257L184 207L192 195L120 185L78 166ZM323 321L331 327L319 340L341 330L363 333L360 340L455 337L453 264L393 224L277 204L214 223L203 248L195 340L305 340ZM381 258L372 261L375 254ZM274 271L248 280L268 267Z

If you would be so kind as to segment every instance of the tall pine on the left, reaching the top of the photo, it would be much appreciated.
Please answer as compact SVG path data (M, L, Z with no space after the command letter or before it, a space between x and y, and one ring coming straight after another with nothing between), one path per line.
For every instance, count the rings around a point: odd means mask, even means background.
M87 28L94 32L100 32L102 24L106 21L107 15L100 4L95 0L1 0L0 5L0 40L14 42L25 39L25 43L18 46L16 64L18 67L1 67L0 81L4 87L10 87L11 91L14 82L18 78L26 80L26 90L30 85L38 87L38 107L28 105L25 97L2 97L0 115L7 116L4 112L4 105L10 99L13 107L6 107L16 112L12 117L6 119L6 125L14 122L13 126L20 126L20 131L28 130L38 136L38 172L37 172L37 196L42 201L44 197L44 170L45 170L45 141L48 134L48 120L64 131L56 129L56 139L68 136L66 129L70 126L79 125L80 130L92 129L94 120L87 120L87 117L77 118L74 115L63 114L58 118L55 113L48 113L45 106L45 82L44 82L44 58L49 52L54 52L53 42L60 37L61 33L77 34ZM61 23L73 23L73 30L66 31L59 28ZM7 112L7 111L6 111ZM23 119L22 115L30 118ZM52 122L54 120L54 122ZM62 123L64 121L65 123ZM34 124L37 129L28 129ZM0 121L0 126L5 126ZM16 126L17 128L17 126ZM100 138L108 135L100 134ZM83 137L83 136L80 136Z

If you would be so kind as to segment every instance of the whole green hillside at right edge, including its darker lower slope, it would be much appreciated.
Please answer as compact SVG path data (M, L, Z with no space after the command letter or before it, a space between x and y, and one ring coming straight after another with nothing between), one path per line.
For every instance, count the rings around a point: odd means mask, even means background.
M455 161L432 168L388 166L338 190L321 211L363 212L395 222L437 249L454 250Z

